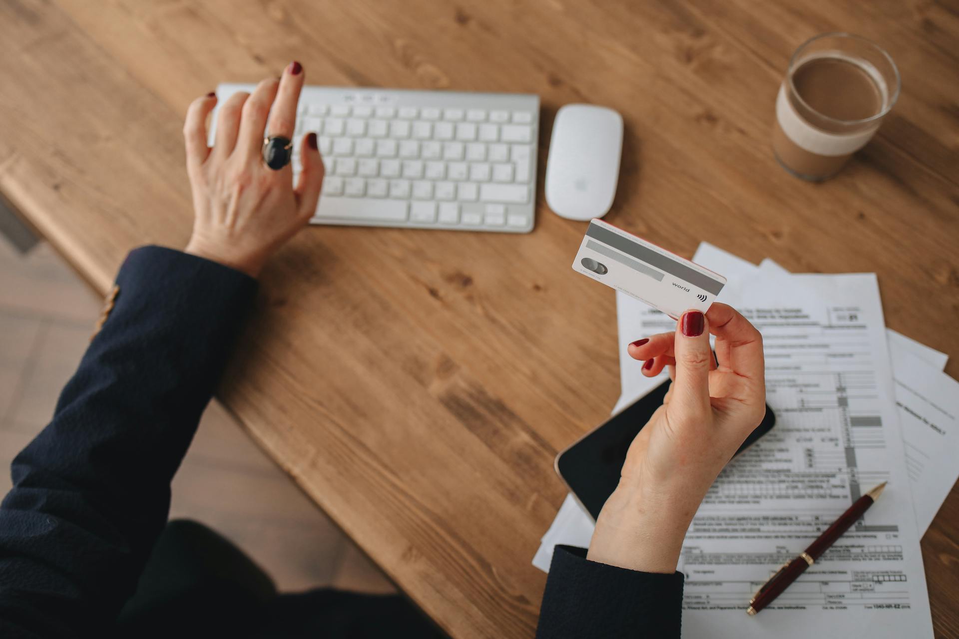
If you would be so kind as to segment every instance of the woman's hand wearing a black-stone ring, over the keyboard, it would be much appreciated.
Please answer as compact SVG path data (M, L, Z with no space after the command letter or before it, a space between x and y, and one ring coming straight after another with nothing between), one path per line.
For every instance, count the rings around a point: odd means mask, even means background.
M216 96L190 104L183 137L196 217L187 253L256 277L313 216L323 185L316 134L303 140L303 171L295 189L290 165L272 171L262 154L265 129L268 136L292 139L303 76L299 62L291 62L280 80L263 80L252 95L233 94L220 107L213 148L206 146L206 118Z

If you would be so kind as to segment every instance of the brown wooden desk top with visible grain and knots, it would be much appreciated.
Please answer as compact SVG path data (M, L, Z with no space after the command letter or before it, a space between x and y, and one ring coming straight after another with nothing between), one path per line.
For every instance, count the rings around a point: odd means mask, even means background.
M876 271L890 327L959 377L959 18L915 1L0 4L0 189L92 285L183 246L181 118L221 80L520 91L626 121L608 219L682 254L710 240L795 271ZM903 91L838 178L770 151L787 58L871 37ZM538 194L542 200L542 191ZM619 395L613 294L570 270L585 225L539 207L503 236L314 227L263 276L222 399L456 637L528 637L530 565L563 499L555 452ZM640 337L640 335L637 335ZM938 633L959 636L959 494L923 541Z

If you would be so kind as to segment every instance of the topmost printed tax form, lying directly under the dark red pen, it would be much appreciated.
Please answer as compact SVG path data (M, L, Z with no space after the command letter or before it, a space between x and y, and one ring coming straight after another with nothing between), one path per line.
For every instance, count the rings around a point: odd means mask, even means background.
M679 564L684 633L931 636L875 275L763 274L723 292L763 335L777 423L720 473L693 518ZM772 572L882 481L861 521L743 619Z

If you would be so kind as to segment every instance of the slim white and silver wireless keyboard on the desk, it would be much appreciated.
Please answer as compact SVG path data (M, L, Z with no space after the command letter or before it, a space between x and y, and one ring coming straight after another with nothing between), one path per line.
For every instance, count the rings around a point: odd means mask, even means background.
M253 88L221 84L218 102ZM326 165L316 224L528 233L538 125L534 95L305 86L293 175L315 131Z

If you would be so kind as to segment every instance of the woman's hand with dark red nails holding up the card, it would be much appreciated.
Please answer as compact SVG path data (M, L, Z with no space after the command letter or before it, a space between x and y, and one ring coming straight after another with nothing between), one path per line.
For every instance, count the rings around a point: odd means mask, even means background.
M716 303L706 315L687 311L675 332L633 342L629 354L646 360L646 376L668 365L673 383L629 447L588 559L671 573L706 491L765 414L762 336Z

